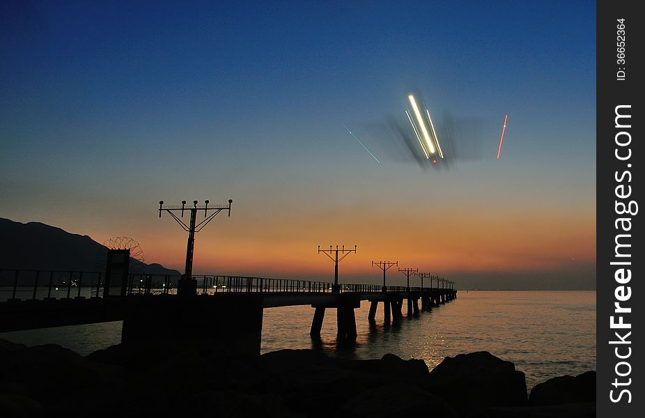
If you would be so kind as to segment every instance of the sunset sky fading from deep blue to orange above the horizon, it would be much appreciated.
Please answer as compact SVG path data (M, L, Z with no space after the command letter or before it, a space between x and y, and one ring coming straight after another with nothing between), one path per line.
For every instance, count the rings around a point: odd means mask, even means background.
M127 235L183 271L157 202L233 199L194 273L328 280L318 245L357 245L341 282L384 260L595 288L595 3L65 3L0 6L0 217ZM408 93L454 139L449 168L392 132Z

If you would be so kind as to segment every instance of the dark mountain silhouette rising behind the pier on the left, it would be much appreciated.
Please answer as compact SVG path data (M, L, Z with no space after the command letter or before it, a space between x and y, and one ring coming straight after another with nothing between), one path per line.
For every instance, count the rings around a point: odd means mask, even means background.
M68 233L56 226L22 224L0 218L0 269L72 270L97 272L105 269L107 247L87 235ZM145 274L180 274L157 263L131 259Z

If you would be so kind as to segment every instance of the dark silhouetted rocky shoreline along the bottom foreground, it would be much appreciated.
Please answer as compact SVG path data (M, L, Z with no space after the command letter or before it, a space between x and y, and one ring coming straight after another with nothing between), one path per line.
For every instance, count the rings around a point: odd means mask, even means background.
M334 359L315 350L227 355L195 343L119 344L82 357L0 340L0 416L595 417L596 372L531 389L481 351L419 359Z

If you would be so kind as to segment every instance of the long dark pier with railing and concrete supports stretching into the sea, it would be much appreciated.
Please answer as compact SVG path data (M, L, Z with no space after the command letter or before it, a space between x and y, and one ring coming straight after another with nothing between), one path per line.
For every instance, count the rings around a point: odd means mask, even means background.
M430 288L334 286L322 281L203 275L189 280L192 291L178 295L178 288L186 286L178 276L128 274L118 286L105 288L106 275L100 272L0 273L0 289L10 293L0 302L0 332L123 320L123 342L201 339L219 346L225 341L228 350L252 353L260 351L263 309L310 305L313 339L320 339L327 309L336 309L339 342L351 342L357 336L355 309L362 301L370 303L363 320L375 322L382 315L389 324L402 320L403 307L412 316L457 297L449 281Z

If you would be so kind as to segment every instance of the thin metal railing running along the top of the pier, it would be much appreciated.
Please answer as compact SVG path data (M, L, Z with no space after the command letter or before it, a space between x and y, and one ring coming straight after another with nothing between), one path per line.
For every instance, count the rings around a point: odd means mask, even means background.
M129 274L126 295L175 294L180 275ZM218 293L332 293L332 283L265 277L194 275L201 295ZM113 279L114 280L114 279ZM17 300L84 299L102 297L104 272L60 270L0 270L0 302ZM114 289L114 291L113 291ZM430 291L430 288L387 286L390 292ZM382 292L378 284L340 284L341 293ZM121 294L121 284L111 284L111 295Z

